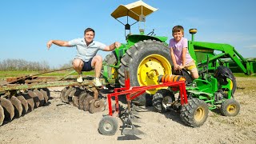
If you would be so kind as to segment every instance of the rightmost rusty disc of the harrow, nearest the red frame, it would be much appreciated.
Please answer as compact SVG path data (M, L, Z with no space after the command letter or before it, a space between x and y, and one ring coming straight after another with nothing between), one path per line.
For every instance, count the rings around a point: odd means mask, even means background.
M104 100L100 99L100 100L91 100L90 104L89 104L89 112L91 114L97 113L97 112L101 112L104 111L106 109L106 105Z

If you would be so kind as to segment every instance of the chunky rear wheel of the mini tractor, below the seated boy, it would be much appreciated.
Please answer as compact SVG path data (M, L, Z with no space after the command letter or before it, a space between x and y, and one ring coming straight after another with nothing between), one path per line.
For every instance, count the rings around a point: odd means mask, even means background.
M202 126L208 117L208 107L206 102L198 98L192 98L188 104L182 106L181 114L182 121L192 127Z

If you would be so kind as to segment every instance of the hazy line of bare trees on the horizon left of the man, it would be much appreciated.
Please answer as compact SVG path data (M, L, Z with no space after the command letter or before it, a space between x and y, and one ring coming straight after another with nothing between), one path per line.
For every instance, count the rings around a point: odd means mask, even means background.
M70 66L71 64L64 64L63 66L60 66L60 69L64 69ZM56 68L50 68L49 63L46 61L29 62L24 59L8 58L0 61L0 70L47 71L47 70L56 70Z

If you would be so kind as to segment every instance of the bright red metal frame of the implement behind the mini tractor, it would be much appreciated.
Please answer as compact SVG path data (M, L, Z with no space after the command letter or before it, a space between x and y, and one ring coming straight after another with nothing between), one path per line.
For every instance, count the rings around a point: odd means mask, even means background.
M187 104L187 95L186 95L186 84L185 81L179 82L166 82L159 85L152 85L152 86L132 86L130 87L130 78L125 80L126 87L122 88L115 88L114 93L107 94L107 100L109 104L109 115L116 116L119 113L119 105L118 105L118 95L126 94L126 100L131 101L134 98L137 98L139 95L146 92L146 90L155 89L159 87L174 87L179 90L179 95L181 98L181 105ZM111 104L111 97L115 99L115 111L114 114L112 112L112 104Z

